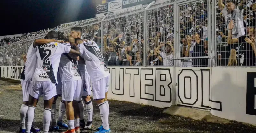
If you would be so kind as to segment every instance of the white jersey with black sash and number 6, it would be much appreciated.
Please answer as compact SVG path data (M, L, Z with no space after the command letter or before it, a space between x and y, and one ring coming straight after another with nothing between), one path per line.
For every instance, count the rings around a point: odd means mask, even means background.
M84 58L91 81L95 82L109 76L103 56L94 41L79 44L81 56Z

